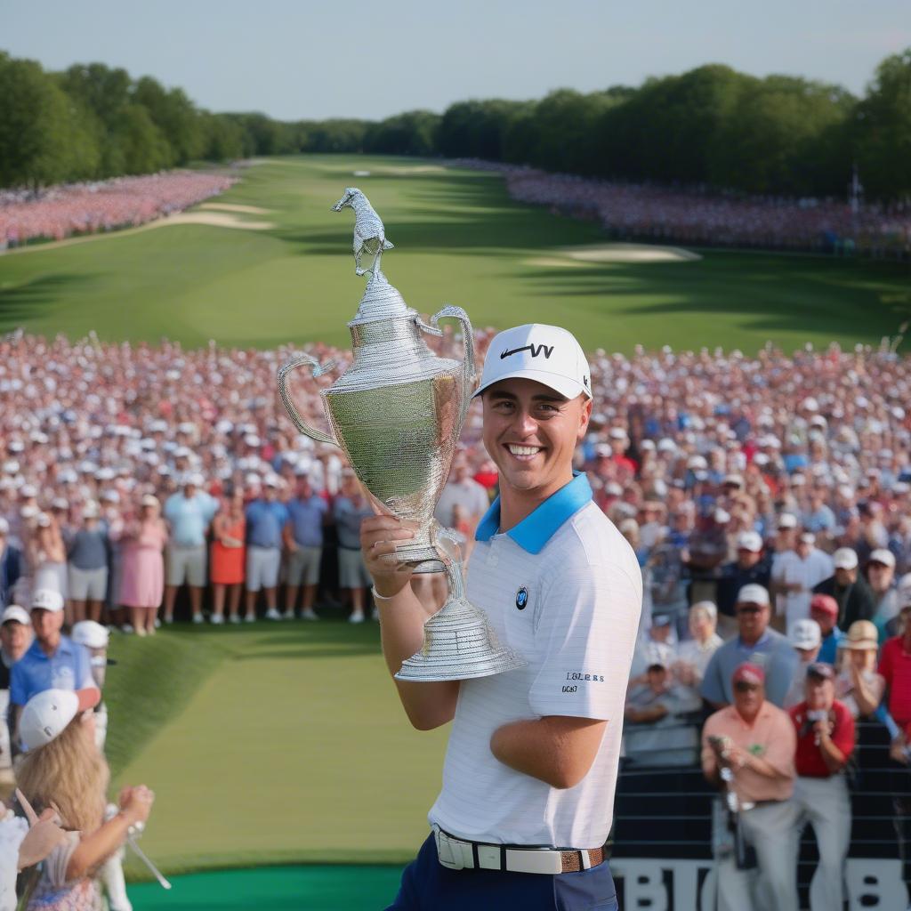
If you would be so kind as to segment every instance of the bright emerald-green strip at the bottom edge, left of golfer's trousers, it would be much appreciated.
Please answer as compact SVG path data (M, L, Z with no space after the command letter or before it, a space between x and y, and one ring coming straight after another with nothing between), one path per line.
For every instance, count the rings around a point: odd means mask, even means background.
M401 870L383 866L274 866L178 876L130 887L136 911L378 911L398 890Z

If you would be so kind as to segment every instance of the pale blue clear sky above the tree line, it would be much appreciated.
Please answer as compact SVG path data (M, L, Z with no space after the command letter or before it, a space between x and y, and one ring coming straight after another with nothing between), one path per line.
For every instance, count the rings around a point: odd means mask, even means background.
M908 0L0 0L0 49L100 61L213 111L384 118L725 63L861 93Z

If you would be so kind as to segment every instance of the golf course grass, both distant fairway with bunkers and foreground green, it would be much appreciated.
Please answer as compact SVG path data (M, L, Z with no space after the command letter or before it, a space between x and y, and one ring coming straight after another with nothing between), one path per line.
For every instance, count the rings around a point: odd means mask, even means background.
M235 348L347 346L363 292L353 215L363 189L415 310L477 326L557 322L589 350L791 352L895 337L907 263L610 242L593 221L517 204L490 172L438 160L259 159L220 197L123 231L0 255L0 333ZM147 783L142 847L174 890L152 908L384 906L426 835L446 730L404 718L375 623L176 624L115 634L107 673L113 784ZM305 867L302 865L306 865ZM128 875L148 880L128 855Z

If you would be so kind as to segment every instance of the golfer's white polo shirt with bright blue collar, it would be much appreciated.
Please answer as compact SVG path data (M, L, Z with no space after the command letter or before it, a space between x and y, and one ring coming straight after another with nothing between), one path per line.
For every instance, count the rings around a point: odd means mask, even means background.
M443 790L429 820L493 844L595 848L607 840L617 784L623 705L642 607L639 563L578 475L506 534L499 501L481 520L467 598L527 666L462 681ZM575 787L552 788L500 763L490 737L544 715L608 722Z

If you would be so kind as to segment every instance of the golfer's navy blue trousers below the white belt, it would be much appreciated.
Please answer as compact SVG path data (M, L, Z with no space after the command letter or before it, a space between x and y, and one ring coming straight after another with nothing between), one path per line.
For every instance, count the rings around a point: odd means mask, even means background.
M618 911L607 862L578 873L545 875L449 870L436 859L434 836L404 868L386 911Z

